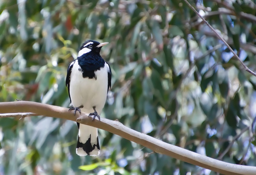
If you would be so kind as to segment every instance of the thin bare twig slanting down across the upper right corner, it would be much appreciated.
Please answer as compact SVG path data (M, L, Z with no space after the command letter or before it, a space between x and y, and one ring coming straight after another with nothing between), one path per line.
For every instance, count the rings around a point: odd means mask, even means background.
M196 11L196 9L188 3L187 0L184 0L186 4L204 21L204 23L210 27L210 29L215 33L216 36L228 47L228 49L235 55L235 58L243 65L244 69L249 72L250 74L254 75L256 77L256 73L253 72L251 69L249 69L244 62L239 58L238 55L236 55L235 51L228 45L228 43L215 31L215 29Z

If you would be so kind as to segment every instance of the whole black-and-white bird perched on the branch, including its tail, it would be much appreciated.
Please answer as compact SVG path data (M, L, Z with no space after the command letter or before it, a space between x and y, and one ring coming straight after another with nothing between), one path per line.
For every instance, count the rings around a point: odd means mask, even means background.
M108 42L99 43L93 40L85 41L78 52L77 59L68 66L66 86L72 107L79 113L89 113L98 117L105 105L108 90L111 87L111 69L100 56L100 49ZM79 156L98 156L100 145L98 129L79 124L76 154Z

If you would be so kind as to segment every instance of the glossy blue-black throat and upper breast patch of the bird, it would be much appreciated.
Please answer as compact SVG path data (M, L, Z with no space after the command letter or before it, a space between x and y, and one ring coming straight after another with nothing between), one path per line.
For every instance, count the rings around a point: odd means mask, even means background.
M95 78L97 79L95 75L96 70L100 70L100 68L104 68L105 61L100 56L99 53L95 52L89 52L82 56L80 56L78 59L78 65L81 67L81 71L83 73L84 78Z

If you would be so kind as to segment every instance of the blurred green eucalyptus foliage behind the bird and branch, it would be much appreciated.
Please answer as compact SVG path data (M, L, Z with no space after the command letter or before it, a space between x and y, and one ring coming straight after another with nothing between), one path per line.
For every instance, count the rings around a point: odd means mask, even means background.
M256 1L190 0L256 71ZM256 77L183 0L0 0L0 101L68 107L69 62L84 40L112 88L101 117L233 164L256 166ZM1 113L1 111L0 111ZM99 157L76 155L77 126L0 119L0 174L210 174L104 130Z

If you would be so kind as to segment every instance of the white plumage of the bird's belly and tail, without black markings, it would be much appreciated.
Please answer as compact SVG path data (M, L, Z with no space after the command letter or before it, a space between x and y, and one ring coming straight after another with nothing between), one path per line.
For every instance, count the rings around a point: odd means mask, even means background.
M81 112L93 113L92 106L96 106L96 111L100 115L105 105L108 93L108 72L109 66L105 63L103 68L95 71L97 79L83 78L81 67L78 65L78 60L74 62L70 75L70 98L73 106L81 106ZM79 126L79 141L85 143L91 135L91 144L97 144L98 129L80 124ZM79 156L87 155L82 148L77 148L76 153ZM99 155L100 150L93 150L90 156Z

